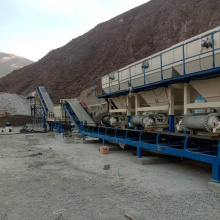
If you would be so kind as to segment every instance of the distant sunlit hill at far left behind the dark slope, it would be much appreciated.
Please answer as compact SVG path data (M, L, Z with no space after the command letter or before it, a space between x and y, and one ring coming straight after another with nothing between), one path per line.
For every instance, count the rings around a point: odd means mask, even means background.
M33 61L26 58L0 52L0 78L11 73L13 70L20 69L32 63Z

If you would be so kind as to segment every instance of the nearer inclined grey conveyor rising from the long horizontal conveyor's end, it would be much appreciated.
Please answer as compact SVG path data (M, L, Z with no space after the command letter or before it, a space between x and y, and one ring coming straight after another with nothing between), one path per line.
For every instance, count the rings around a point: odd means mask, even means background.
M94 121L88 115L86 110L81 106L77 99L64 99L69 104L79 121L87 121L88 125L95 126Z

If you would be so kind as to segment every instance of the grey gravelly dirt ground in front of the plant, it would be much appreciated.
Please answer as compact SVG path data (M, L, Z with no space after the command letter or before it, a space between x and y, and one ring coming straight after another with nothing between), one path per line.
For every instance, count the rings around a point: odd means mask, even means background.
M0 135L0 219L219 219L220 195L207 187L211 172L186 163L141 165L133 150L100 142L64 143L37 134L29 146L24 134ZM104 165L110 165L104 170ZM120 177L119 177L120 176Z

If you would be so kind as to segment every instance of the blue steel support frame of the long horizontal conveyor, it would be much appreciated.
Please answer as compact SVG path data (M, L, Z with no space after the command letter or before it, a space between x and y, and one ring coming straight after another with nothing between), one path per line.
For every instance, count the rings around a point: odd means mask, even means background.
M152 150L155 152L163 152L166 154L185 157L192 160L197 160L205 163L209 163L212 165L212 180L214 182L220 182L220 142L218 144L217 152L209 151L208 149L204 149L204 151L193 152L195 150L199 150L200 147L190 148L188 146L188 138L186 135L184 145L180 147L179 145L172 144L164 144L160 143L159 137L160 133L156 136L156 140L142 140L142 132L139 135L138 140L133 140L134 138L128 137L128 131L124 137L117 136L117 129L115 131L115 135L108 134L108 128L105 128L105 132L100 132L100 128L94 129L95 127L90 127L91 129L84 128L83 130L79 130L79 132L83 135L83 140L85 140L85 136L95 137L102 139L103 145L105 145L105 141L111 141L115 143L122 143L131 145L137 148L137 157L141 158L141 149ZM97 131L98 129L98 131ZM96 130L96 131L95 131ZM206 151L205 151L206 150ZM215 155L216 154L216 155Z

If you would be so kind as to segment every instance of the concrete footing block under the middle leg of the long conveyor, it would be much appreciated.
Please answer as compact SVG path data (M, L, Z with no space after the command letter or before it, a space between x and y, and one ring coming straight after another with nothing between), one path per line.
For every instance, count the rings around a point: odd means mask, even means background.
M158 156L149 156L149 157L141 157L141 158L134 158L134 162L137 164L163 164L163 163L172 163L175 160L173 158L166 158L166 157L158 157ZM175 161L176 162L176 161Z

